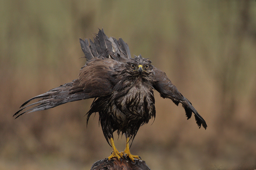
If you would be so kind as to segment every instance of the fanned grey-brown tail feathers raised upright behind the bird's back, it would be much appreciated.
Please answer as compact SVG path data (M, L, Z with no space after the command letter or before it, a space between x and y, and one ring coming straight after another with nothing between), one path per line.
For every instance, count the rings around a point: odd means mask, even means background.
M87 39L80 38L80 44L87 61L95 57L112 58L119 62L126 62L131 58L131 53L128 45L122 38L116 40L115 37L110 37L104 33L103 29L99 29L99 33L90 39L90 44Z

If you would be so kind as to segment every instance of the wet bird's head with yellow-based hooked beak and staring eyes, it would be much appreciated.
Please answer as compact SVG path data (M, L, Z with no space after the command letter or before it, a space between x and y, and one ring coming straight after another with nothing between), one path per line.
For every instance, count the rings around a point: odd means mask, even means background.
M128 61L125 67L132 76L147 76L152 73L154 66L151 65L151 61L148 58L142 58L139 55Z

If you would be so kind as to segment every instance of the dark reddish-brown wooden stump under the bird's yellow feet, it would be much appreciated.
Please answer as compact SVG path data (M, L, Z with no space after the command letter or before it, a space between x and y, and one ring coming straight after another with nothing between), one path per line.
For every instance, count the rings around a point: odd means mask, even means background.
M98 160L92 165L91 170L150 170L144 160L137 160L136 163L131 160L122 159L122 163L117 158Z

